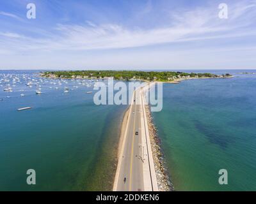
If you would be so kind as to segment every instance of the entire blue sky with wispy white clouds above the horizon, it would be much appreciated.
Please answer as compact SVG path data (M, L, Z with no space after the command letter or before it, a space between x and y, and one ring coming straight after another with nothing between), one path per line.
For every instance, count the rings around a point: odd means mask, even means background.
M255 68L255 0L0 1L0 69Z

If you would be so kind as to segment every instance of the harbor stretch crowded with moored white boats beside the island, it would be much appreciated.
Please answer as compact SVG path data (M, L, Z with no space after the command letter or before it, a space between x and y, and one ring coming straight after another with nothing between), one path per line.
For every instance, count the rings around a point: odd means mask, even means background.
M86 94L92 94L93 89L97 87L97 82L99 80L86 78L45 78L41 77L38 72L32 75L28 73L0 73L0 91L3 91L0 101L18 96L26 98L31 94L45 96L52 91L70 94L77 89L84 89Z

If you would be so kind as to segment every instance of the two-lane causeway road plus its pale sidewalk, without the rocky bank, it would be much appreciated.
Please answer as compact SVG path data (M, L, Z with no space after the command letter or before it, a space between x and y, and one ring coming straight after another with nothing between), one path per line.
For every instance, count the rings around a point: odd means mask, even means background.
M114 191L153 190L146 138L148 131L145 121L147 119L145 119L145 109L141 103L142 97L142 89L136 89L129 109L122 149L118 157ZM152 165L154 166L154 162Z

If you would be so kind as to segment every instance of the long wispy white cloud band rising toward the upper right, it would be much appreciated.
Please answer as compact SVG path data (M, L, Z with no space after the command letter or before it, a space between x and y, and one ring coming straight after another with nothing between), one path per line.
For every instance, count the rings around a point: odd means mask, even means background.
M180 41L193 41L200 39L228 38L246 35L236 29L244 27L244 21L237 20L242 15L253 20L252 13L248 12L253 4L234 6L232 18L227 21L220 20L212 8L198 8L173 15L175 24L166 27L155 27L148 30L128 29L122 25L102 24L86 22L85 25L58 24L57 33L52 33L50 38L28 38L19 42L21 50L94 50L112 48L132 48L157 45L161 43L173 43ZM255 15L254 15L255 17ZM172 19L172 20L173 20ZM244 19L244 17L243 17ZM227 34L227 33L230 34ZM2 33L3 35L3 33ZM5 36L17 38L19 34L5 33ZM15 41L15 45L17 41ZM12 45L12 42L9 43ZM1 46L1 44L0 44ZM17 49L18 50L18 49Z

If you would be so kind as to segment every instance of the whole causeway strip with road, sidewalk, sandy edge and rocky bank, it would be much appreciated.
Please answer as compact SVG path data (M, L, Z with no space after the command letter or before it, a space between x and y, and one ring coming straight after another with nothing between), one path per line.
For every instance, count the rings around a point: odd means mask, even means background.
M132 103L125 112L113 191L173 191L150 106L144 101L145 93L151 85L155 84L148 84L134 91L133 98L136 98L137 103ZM138 136L134 133L136 130ZM133 168L135 174L132 173ZM124 178L128 184L124 182Z

